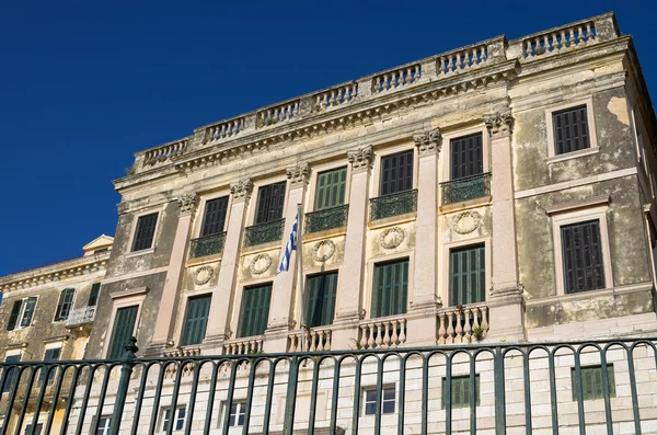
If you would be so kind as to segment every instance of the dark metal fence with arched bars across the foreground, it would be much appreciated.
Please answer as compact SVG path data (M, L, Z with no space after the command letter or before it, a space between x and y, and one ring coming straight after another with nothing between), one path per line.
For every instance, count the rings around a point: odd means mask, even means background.
M0 364L0 433L654 433L656 340L181 358L131 343L122 360Z

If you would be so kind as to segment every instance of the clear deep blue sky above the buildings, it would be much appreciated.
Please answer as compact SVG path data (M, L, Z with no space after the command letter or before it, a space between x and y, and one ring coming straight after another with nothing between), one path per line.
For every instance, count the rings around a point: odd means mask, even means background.
M114 234L132 153L492 36L615 11L653 95L655 1L5 2L0 276Z

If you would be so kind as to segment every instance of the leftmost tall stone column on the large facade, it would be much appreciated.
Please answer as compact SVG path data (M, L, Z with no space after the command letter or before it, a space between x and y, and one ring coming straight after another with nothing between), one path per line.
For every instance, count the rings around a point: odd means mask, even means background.
M160 299L153 340L150 348L147 351L149 355L160 355L166 346L173 344L174 311L178 306L178 287L183 274L187 243L189 241L192 218L198 203L198 196L195 193L187 193L181 196L177 203L181 213L171 249L166 281L162 289L162 298Z

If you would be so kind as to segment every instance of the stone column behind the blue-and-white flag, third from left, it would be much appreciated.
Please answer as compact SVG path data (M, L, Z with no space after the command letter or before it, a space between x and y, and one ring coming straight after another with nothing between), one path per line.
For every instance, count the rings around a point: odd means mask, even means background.
M288 242L292 224L297 216L297 204L303 204L306 185L308 184L308 175L310 169L308 163L301 163L295 168L286 170L288 183L287 207L285 210L285 227L283 231L283 240L280 245L280 254ZM303 210L303 206L301 206ZM299 216L303 219L303 216ZM301 249L301 247L299 247ZM274 278L272 288L272 304L269 305L269 322L265 331L265 352L287 352L287 335L295 322L292 313L297 302L297 285L298 256L299 251L292 251L290 255L290 267L287 272L279 273ZM278 265L276 265L278 267Z

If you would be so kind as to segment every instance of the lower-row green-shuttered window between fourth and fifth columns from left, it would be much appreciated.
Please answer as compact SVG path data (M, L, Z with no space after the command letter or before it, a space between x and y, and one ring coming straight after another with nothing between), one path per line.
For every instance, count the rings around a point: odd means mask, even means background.
M374 265L372 318L406 312L408 259Z

